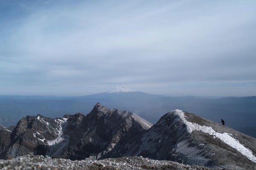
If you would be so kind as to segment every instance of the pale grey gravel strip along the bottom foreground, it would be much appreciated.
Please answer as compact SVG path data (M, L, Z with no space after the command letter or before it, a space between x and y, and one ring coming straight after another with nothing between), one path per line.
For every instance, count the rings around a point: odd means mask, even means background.
M0 160L2 170L213 170L203 166L189 166L173 161L158 161L143 157L71 161L48 156L17 157Z

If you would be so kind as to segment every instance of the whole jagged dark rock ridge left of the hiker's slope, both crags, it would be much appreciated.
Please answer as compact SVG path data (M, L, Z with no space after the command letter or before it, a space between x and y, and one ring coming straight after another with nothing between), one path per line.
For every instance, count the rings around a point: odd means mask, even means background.
M26 154L41 154L56 158L85 159L107 157L115 145L120 152L109 157L119 157L127 148L122 143L139 141L151 123L132 112L108 109L97 103L87 116L77 113L63 118L42 115L22 118L11 133L11 140L2 152L2 158Z

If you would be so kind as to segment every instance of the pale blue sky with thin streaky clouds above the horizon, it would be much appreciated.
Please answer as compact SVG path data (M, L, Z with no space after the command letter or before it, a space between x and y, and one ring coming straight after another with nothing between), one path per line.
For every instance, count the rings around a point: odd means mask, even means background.
M0 95L256 95L255 0L1 0Z

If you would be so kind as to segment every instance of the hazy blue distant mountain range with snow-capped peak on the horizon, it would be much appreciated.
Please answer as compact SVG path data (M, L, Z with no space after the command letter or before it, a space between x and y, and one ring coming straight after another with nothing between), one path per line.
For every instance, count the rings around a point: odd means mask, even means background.
M15 125L26 115L42 114L55 118L76 112L87 114L97 102L135 112L152 123L169 110L188 110L212 121L224 119L226 126L256 137L256 96L172 97L136 92L125 87L87 96L0 96L0 124L6 127Z

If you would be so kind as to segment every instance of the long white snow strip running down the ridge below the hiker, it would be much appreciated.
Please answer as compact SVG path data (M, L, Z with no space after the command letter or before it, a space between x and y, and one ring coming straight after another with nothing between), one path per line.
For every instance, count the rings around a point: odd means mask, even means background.
M186 117L184 115L184 112L182 110L173 110L173 114L178 115L184 122L184 124L187 126L187 132L192 133L192 131L199 131L203 133L207 133L213 136L213 138L220 139L223 143L226 143L227 145L231 146L238 152L240 152L242 155L247 157L247 159L253 161L256 163L256 157L252 153L252 151L248 148L245 148L244 145L242 145L237 139L233 138L229 133L219 133L213 130L212 127L209 126L201 126L197 123L192 123L186 120Z

